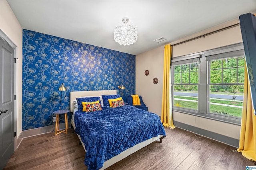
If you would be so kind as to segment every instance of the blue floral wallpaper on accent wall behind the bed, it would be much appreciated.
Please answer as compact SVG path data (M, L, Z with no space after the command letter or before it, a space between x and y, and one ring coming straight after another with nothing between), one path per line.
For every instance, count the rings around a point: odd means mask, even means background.
M22 130L52 125L53 111L70 108L70 91L135 94L135 55L23 29L22 62Z

